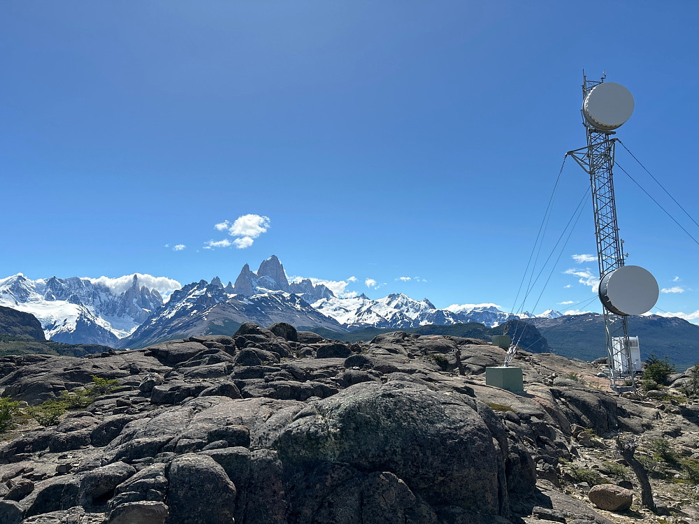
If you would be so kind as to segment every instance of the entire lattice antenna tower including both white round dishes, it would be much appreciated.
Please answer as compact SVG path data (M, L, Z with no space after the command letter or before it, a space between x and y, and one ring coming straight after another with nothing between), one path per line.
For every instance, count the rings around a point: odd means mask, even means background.
M587 145L568 154L590 175L610 387L621 392L636 388L628 316L651 310L658 300L658 284L647 270L624 264L612 176L614 130L630 118L634 102L626 87L605 83L606 76L588 80L583 72L581 112Z

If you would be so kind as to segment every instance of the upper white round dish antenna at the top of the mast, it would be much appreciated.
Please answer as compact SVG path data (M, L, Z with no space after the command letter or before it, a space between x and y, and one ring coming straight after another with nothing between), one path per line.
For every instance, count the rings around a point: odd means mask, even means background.
M592 88L582 104L582 115L598 131L617 129L633 113L633 95L626 87L605 82Z

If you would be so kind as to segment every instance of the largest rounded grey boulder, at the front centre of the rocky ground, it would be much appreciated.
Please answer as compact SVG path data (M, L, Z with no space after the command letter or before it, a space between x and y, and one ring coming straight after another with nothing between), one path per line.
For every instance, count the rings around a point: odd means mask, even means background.
M391 472L431 504L496 515L498 450L474 408L415 383L362 383L314 402L276 445L284 464Z

